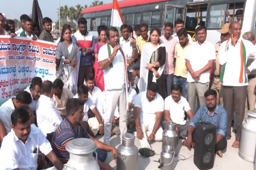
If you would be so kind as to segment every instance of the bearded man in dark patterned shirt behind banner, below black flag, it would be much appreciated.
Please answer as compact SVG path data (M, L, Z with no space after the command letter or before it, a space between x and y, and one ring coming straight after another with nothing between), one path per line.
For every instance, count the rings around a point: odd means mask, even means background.
M43 27L44 30L39 36L39 40L54 42L53 36L51 34L52 31L52 20L48 17L43 18Z

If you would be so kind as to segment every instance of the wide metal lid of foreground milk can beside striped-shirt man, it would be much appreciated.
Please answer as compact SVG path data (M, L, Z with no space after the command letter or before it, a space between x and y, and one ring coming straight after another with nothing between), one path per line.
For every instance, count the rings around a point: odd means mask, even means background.
M71 140L65 148L68 152L79 155L88 154L95 151L97 149L97 145L91 139L77 138Z

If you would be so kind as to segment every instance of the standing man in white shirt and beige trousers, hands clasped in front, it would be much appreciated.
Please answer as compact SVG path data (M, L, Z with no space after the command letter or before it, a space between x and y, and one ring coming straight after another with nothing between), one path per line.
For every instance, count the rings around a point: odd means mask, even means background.
M185 59L188 69L188 103L195 112L195 101L199 98L200 106L205 105L204 93L209 89L210 69L213 66L215 47L206 40L206 28L199 26L196 29L197 42L189 48Z

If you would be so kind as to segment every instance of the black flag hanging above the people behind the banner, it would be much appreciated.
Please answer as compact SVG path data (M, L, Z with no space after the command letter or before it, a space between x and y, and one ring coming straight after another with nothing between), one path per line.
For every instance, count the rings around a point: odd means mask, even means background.
M40 32L43 30L43 16L37 0L33 0L32 21L39 24Z

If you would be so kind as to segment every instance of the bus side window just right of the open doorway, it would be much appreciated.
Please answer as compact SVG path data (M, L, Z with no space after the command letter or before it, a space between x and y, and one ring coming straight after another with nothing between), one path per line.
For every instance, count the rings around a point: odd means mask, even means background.
M210 20L208 28L222 28L225 24L225 11L227 4L213 5L210 8Z

